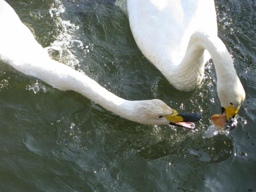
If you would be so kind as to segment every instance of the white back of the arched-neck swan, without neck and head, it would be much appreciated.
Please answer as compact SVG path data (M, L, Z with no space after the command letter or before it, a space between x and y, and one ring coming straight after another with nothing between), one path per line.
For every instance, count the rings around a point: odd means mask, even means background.
M217 35L213 0L127 0L127 12L138 47L155 65L159 56L179 64L196 30Z

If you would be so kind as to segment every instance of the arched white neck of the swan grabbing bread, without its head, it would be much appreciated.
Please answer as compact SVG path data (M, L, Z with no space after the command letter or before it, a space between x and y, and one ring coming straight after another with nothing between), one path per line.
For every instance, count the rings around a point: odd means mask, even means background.
M190 37L181 63L173 65L164 74L177 89L190 91L201 83L204 76L204 50L212 56L219 83L237 81L232 58L220 38L208 36L203 31L196 31Z

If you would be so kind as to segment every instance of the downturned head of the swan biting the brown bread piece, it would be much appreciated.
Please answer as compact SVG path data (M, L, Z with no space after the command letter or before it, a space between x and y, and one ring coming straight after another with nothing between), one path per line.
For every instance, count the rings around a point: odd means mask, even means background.
M238 113L245 99L243 85L238 77L233 82L217 83L217 92L221 103L221 113L226 113L226 120L232 119Z

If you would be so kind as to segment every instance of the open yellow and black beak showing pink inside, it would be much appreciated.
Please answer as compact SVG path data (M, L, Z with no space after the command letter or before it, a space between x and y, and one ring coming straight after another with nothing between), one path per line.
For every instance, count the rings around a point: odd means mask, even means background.
M175 125L178 127L184 127L187 129L194 129L195 124L191 122L196 122L202 118L200 113L179 113L176 110L173 110L173 113L168 116L164 116L170 125Z

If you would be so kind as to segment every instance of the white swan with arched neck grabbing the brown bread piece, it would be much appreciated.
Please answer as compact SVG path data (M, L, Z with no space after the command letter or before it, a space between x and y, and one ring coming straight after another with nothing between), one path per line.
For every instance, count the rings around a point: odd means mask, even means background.
M222 113L227 120L237 114L245 92L217 36L213 0L127 0L127 13L141 52L177 89L198 86L212 56Z

